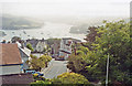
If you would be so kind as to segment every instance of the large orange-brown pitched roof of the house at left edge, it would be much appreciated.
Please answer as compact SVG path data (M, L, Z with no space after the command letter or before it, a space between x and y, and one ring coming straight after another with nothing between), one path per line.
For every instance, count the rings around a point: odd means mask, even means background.
M0 65L22 64L18 44L0 44Z

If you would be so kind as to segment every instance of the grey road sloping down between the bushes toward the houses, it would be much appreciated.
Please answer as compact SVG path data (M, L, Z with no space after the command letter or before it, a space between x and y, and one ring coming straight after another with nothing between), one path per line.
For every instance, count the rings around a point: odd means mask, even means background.
M48 67L43 71L45 78L57 77L58 75L66 73L67 61L55 61L54 58L50 63Z

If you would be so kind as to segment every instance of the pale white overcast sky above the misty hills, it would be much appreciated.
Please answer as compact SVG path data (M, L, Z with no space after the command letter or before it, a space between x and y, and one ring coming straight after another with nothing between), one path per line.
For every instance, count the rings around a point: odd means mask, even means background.
M129 17L131 0L0 0L0 12L43 17Z

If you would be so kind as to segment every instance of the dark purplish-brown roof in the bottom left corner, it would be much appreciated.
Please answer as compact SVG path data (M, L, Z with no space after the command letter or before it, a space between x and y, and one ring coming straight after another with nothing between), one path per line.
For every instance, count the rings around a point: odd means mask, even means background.
M32 74L12 74L12 75L1 75L2 84L14 84L14 86L24 86L25 84L31 84L34 82ZM13 86L13 85L12 85Z

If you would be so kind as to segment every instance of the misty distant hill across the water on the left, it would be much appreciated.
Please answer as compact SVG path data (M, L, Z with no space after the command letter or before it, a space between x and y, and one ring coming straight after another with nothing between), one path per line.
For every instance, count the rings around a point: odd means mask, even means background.
M2 30L21 30L21 29L37 29L43 25L41 21L36 21L30 18L13 17L3 14Z

